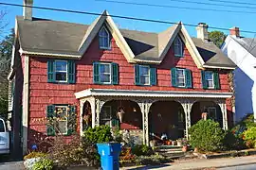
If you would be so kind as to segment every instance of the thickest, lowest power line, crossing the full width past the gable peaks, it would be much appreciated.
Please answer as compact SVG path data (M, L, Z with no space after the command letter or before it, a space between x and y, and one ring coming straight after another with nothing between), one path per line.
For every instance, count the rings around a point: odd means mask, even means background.
M81 11L81 10L71 10L71 9L64 9L64 8L46 8L46 7L38 7L38 6L25 6L25 5L20 5L20 4L11 4L11 3L3 3L0 2L0 5L4 6L11 6L11 7L29 7L29 8L38 8L38 9L44 9L44 10L53 10L53 11L61 11L61 12L69 12L69 13L79 13L79 14L86 14L86 15L94 15L94 16L101 16L103 15L102 13L96 13L96 12L88 12L88 11ZM163 21L163 20L153 20L153 19L145 19L145 18L137 18L137 17L129 17L129 16L121 16L121 15L103 15L103 16L110 16L113 18L119 18L119 19L126 19L126 20L135 20L135 21L142 21L142 22L151 22L151 23L159 23L159 24L171 24L171 25L178 25L175 22L170 22L170 21ZM198 25L192 25L192 24L184 24L184 26L198 26ZM218 29L218 30L225 30L229 31L229 28L225 27L216 27L216 26L209 26L209 28L212 29ZM245 32L245 33L253 33L256 34L255 31L250 31L250 30L240 30L240 32Z

